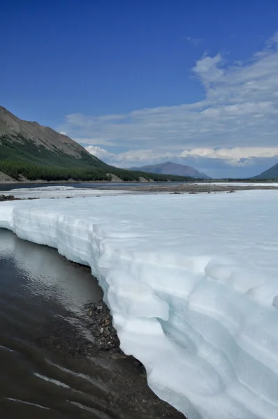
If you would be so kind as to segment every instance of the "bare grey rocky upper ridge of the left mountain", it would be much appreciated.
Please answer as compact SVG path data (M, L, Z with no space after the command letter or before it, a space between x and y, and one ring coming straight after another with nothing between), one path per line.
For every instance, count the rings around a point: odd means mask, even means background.
M82 157L81 152L89 154L82 145L71 140L66 135L57 133L48 126L38 122L23 121L11 112L0 106L0 135L22 135L24 138L34 140L36 145L42 145L52 152L62 152L77 159ZM0 140L1 142L1 140ZM90 154L92 156L92 154ZM94 158L94 156L92 156Z

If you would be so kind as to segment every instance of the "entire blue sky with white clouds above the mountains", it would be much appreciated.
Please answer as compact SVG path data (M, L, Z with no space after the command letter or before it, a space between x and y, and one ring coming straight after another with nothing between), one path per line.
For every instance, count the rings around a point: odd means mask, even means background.
M0 25L0 105L106 163L278 162L277 0L2 0Z

